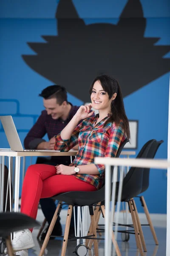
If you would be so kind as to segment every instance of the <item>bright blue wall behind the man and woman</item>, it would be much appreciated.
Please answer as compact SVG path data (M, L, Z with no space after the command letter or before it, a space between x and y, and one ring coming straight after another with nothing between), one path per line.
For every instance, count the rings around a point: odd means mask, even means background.
M20 139L26 136L43 109L41 90L48 85L44 77L31 70L21 55L33 54L26 42L43 42L41 35L56 35L54 15L57 0L3 0L0 2L0 115L14 117ZM74 0L74 5L86 24L113 23L119 20L127 0ZM170 10L167 0L141 0L144 17L147 18L145 37L158 37L156 45L170 45ZM97 7L96 7L97 6ZM170 58L170 53L164 58ZM127 67L128 68L128 67ZM149 72L149 71L148 71ZM164 140L156 158L167 158L167 121L169 76L164 74L125 97L125 109L129 119L139 120L138 148L150 139ZM74 105L83 102L68 94ZM8 100L8 101L6 101ZM8 142L0 126L0 148ZM27 159L27 166L30 163ZM35 159L34 159L35 161ZM167 177L165 170L151 170L150 187L145 193L150 212L166 213ZM156 200L161 200L161 207ZM139 206L139 204L137 204ZM142 208L139 206L139 212Z

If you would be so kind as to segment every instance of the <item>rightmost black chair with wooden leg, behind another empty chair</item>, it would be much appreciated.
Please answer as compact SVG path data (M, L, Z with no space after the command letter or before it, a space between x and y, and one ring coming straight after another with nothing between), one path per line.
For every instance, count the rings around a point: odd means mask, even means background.
M152 159L152 158L155 157L159 146L163 142L164 142L163 140L160 140L160 141L154 140L154 143L150 146L150 150L148 151L148 158ZM143 181L142 181L142 190L141 190L140 194L145 192L149 187L149 175L150 175L150 168L144 168ZM155 241L155 244L158 245L159 242L158 242L158 239L157 239L157 236L156 236L155 229L154 229L153 224L152 224L152 220L151 220L150 215L149 215L149 211L147 209L147 204L144 200L144 196L139 195L138 197L140 198L142 207L144 208L144 213L145 213L147 221L148 221L148 224L142 224L142 226L148 226L149 225L151 233L153 235L153 239Z

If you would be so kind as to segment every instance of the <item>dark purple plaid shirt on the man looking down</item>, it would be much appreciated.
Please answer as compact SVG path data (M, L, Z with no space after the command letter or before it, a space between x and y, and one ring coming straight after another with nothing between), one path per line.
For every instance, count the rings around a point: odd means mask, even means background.
M24 140L24 147L31 149L37 148L38 144L45 141L42 139L45 134L48 135L49 140L59 134L59 132L62 131L62 129L64 129L65 126L70 122L78 109L79 107L72 106L68 119L65 121L60 118L52 119L51 115L48 115L46 110L42 111L41 115L37 119L37 122L28 132Z

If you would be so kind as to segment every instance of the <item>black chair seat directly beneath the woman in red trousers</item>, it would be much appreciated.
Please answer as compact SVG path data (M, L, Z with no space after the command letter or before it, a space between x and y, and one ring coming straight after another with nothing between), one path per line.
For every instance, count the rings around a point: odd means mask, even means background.
M105 189L99 189L93 192L72 191L61 193L52 197L53 199L63 201L73 206L85 206L99 203L105 200Z

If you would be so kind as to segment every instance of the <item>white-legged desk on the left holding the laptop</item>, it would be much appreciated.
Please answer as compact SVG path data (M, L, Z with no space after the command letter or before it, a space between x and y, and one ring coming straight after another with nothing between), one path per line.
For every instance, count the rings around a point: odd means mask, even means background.
M4 189L4 163L5 156L9 158L9 174L11 173L10 160L11 157L16 157L15 162L15 191L14 191L14 212L18 212L18 201L19 201L19 186L20 186L20 158L21 157L48 157L48 156L76 156L77 150L71 150L68 152L29 152L29 151L11 151L11 150L0 150L0 158L2 157L2 172L1 172L1 193L0 193L0 205L1 211L3 209L3 189ZM0 159L1 160L1 159ZM9 186L11 189L11 186ZM11 193L10 193L11 195ZM10 196L11 198L11 196ZM10 202L11 205L11 202Z

